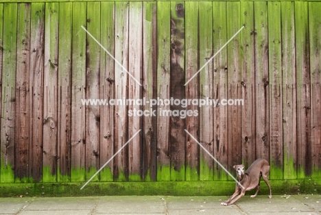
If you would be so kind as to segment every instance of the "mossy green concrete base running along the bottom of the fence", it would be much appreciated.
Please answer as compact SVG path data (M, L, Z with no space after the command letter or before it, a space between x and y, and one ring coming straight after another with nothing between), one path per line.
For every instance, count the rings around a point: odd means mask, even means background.
M321 179L270 180L272 194L321 194ZM0 197L103 196L103 195L168 195L223 196L233 194L234 181L162 181L162 182L93 182L84 183L0 184ZM248 194L255 192L255 189ZM268 194L261 181L259 194Z

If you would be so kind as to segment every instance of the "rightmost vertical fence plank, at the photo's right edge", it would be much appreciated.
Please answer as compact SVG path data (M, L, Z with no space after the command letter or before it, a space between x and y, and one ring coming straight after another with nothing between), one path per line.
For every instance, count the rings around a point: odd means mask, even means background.
M309 3L309 44L311 75L311 175L313 179L321 177L321 18L320 2Z

